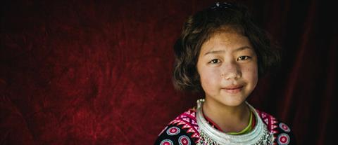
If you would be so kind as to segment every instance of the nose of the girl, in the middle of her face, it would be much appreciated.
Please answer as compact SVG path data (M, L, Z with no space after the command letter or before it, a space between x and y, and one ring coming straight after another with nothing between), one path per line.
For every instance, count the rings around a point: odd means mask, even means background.
M236 62L223 62L221 77L226 80L237 80L238 78L241 78L242 72L240 71L239 65Z

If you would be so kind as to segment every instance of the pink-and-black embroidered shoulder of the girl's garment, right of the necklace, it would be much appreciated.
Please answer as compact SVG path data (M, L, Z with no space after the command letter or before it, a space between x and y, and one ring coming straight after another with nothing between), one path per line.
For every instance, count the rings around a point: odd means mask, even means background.
M268 130L273 133L276 144L296 144L296 138L292 129L286 123L281 122L274 116L263 111L256 110L258 115L263 120L263 123L268 127Z

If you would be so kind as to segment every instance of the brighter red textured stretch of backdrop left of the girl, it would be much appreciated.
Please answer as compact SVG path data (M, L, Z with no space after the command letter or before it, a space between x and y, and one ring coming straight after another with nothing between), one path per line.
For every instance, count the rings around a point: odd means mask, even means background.
M180 99L170 77L172 46L193 5L7 1L1 85L10 100L1 123L8 143L20 144L21 133L39 144L154 141L191 100Z

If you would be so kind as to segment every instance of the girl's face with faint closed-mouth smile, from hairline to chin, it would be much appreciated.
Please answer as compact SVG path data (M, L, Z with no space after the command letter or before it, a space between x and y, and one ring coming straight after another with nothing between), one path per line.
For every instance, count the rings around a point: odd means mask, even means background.
M257 56L246 36L221 32L201 46L197 71L209 103L239 106L256 87Z

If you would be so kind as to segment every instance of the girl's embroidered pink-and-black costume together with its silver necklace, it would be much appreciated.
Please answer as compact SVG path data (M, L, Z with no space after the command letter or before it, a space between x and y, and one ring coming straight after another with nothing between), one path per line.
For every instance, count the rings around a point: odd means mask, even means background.
M171 121L158 134L156 145L172 144L295 144L291 129L273 116L263 111L251 109L249 125L241 132L223 132L213 121L204 116L202 104L204 99L197 101L196 109L189 109Z

